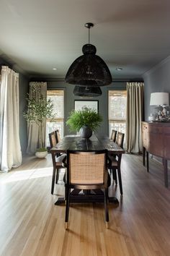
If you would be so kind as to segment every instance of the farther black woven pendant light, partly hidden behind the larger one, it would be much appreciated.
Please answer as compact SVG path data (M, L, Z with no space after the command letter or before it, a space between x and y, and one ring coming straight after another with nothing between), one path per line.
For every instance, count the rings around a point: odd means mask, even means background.
M99 86L90 87L76 85L73 89L73 94L81 97L97 97L102 95L102 90L99 88Z

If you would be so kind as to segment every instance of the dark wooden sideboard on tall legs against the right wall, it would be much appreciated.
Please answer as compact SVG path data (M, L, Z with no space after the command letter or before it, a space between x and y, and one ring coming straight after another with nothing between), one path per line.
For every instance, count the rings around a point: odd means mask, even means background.
M143 132L143 165L147 159L147 171L149 170L148 153L162 158L164 164L164 183L168 187L167 160L170 159L170 123L142 122Z

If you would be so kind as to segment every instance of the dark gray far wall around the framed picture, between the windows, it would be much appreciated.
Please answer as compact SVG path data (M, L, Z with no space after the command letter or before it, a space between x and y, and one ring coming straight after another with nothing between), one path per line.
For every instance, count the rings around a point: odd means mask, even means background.
M68 85L65 82L48 82L48 89L63 88L66 90L66 101L65 101L65 116L68 118L71 110L74 109L74 100L91 100L99 101L99 113L103 117L102 125L97 130L98 133L104 133L108 135L109 126L108 126L108 90L125 90L126 82L112 82L109 86L101 87L102 95L94 98L80 98L73 95L74 85ZM66 121L65 119L65 121ZM65 135L70 134L68 127L65 125Z

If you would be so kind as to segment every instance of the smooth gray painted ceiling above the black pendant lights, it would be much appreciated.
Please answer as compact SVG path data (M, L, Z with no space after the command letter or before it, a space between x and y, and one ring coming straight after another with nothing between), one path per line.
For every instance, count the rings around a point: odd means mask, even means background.
M169 0L1 0L0 56L30 77L62 80L93 22L90 43L113 80L140 78L170 55L169 11Z

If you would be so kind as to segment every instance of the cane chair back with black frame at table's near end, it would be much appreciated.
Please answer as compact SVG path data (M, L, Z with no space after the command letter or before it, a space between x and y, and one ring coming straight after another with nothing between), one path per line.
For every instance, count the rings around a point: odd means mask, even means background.
M107 186L107 151L83 152L68 150L68 184L90 189L91 186Z

